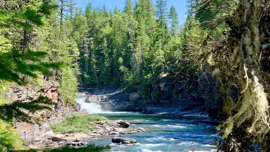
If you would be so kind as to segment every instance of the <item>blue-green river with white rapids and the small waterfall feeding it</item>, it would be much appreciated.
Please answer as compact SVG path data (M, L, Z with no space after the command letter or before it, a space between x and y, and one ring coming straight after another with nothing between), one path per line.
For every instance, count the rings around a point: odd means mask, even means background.
M77 102L82 110L91 114L104 116L110 120L125 120L131 128L143 127L146 132L121 135L123 138L133 138L138 141L131 146L113 146L112 152L216 152L214 140L216 126L206 124L200 117L179 117L164 115L147 115L131 112L102 112L98 104L85 103L85 98ZM92 140L92 144L108 145L112 137Z

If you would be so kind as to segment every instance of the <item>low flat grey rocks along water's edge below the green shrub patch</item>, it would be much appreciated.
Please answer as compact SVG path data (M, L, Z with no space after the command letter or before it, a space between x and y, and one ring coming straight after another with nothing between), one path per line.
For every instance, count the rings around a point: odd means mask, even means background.
M104 136L120 137L122 134L142 133L146 130L144 128L130 127L128 122L123 120L110 121L105 117L101 117L103 121L95 121L96 127L90 128L89 133L55 133L52 132L48 138L40 138L27 142L29 148L43 149L43 148L57 148L64 145L70 146L84 146L92 140L99 140ZM128 144L128 143L127 143Z

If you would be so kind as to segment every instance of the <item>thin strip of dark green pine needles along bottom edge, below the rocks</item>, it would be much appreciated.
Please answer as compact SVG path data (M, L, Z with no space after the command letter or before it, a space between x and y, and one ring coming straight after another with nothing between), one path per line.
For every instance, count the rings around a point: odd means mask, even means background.
M61 147L57 149L44 149L44 150L19 150L19 151L9 151L9 152L108 152L110 147L108 146L95 146L94 144L90 144L86 147Z

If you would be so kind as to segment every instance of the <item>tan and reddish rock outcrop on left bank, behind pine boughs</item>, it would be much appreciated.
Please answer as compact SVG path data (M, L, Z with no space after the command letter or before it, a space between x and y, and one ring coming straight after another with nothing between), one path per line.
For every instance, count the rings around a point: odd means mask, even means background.
M52 143L52 140L48 141L48 138L51 138L53 135L49 124L60 123L67 115L80 109L78 104L71 106L58 98L57 89L59 86L53 80L44 79L40 86L16 86L10 88L11 101L32 101L39 96L45 96L58 103L57 106L51 107L52 111L43 110L29 113L29 119L32 120L33 124L19 122L14 124L14 128L18 129L21 132L21 136L25 139L25 145L30 148L33 145L40 146L37 148L57 146L57 144Z

